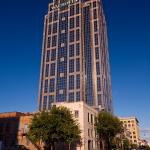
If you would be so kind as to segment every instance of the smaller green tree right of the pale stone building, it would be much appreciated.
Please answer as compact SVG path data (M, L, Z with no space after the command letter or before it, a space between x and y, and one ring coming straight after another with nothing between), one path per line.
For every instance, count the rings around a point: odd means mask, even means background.
M95 128L99 141L104 141L105 150L111 150L111 143L117 134L123 132L120 120L108 112L100 112L96 118Z

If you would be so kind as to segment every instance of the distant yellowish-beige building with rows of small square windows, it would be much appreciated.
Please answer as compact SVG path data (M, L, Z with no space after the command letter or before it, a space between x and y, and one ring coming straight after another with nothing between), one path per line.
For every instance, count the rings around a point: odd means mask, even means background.
M130 132L130 142L139 145L139 121L136 117L121 117L123 126Z

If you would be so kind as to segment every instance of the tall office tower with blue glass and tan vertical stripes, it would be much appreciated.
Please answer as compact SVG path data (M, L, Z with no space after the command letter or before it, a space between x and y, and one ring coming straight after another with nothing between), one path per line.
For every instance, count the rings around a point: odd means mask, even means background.
M78 101L112 111L102 2L53 0L44 21L39 110Z

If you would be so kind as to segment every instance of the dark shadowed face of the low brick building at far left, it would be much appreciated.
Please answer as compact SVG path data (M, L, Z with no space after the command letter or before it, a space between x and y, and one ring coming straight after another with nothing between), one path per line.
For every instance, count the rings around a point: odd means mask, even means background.
M20 112L0 114L0 150L18 149L17 136L21 115Z

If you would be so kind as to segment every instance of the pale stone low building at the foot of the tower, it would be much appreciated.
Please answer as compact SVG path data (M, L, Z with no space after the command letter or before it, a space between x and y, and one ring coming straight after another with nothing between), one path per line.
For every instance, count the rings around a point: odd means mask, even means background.
M81 102L73 103L56 103L56 106L64 106L71 110L75 119L78 120L81 129L81 147L77 147L77 150L97 150L98 144L96 140L94 122L98 113L97 110Z

